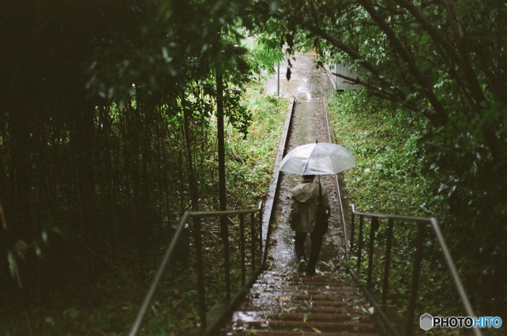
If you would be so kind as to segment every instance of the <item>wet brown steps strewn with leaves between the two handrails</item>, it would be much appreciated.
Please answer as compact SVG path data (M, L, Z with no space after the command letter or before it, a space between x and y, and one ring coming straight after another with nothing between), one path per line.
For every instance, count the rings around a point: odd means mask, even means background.
M265 272L224 335L377 336L373 307L343 274Z

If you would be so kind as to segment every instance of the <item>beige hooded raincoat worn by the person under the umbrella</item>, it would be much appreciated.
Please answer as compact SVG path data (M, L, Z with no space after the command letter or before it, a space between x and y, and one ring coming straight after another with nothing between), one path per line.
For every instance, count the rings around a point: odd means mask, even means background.
M318 207L318 193L317 182L301 183L291 190L292 206L289 223L292 230L306 233L313 232ZM322 186L322 205L324 209L330 210L329 197L324 186Z

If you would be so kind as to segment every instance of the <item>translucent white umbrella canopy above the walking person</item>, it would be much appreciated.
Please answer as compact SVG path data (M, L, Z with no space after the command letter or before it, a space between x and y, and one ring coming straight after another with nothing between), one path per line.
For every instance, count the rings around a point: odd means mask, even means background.
M327 175L355 167L355 158L335 143L308 143L288 152L280 170L299 175Z

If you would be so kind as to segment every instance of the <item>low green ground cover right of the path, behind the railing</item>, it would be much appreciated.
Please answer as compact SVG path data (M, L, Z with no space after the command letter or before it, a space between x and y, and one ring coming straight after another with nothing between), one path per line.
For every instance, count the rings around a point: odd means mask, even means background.
M357 168L343 173L349 202L358 211L437 217L447 234L446 241L452 248L458 272L466 285L468 277L472 276L470 272L480 267L477 264L478 257L464 256L462 247L456 245L457 233L449 226L453 221L450 200L437 192L440 187L439 175L428 169L430 163L424 150L427 145L424 141L428 131L427 121L407 121L411 117L410 114L407 116L406 111L368 96L365 90L346 90L337 94L330 100L330 111L335 139L351 151L358 163ZM356 244L357 227L356 223ZM371 223L366 221L365 246L368 246L370 228ZM376 232L373 285L379 291L383 286L386 228L387 222L382 221ZM402 314L406 313L409 301L416 233L415 225L397 223L394 226L388 303ZM438 246L428 227L416 316L425 312L438 312L442 316L463 314ZM363 251L365 255L366 249ZM353 256L350 263L355 268L357 258ZM361 273L365 273L367 260L363 260L362 265ZM477 274L474 276L475 280L481 279L477 278ZM477 287L468 288L468 294L473 296L476 314L503 316L501 307L497 306L494 310L484 307L483 297L478 296L477 292Z

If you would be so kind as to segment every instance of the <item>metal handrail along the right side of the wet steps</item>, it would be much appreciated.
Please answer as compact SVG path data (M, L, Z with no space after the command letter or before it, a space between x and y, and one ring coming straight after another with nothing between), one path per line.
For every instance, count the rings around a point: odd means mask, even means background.
M433 228L434 235L437 237L437 240L439 242L439 246L444 254L444 259L447 264L448 271L452 277L452 280L454 282L454 285L456 287L456 290L459 294L461 303L463 305L463 308L466 312L466 314L470 317L475 316L474 312L472 310L472 305L470 305L470 302L468 300L468 296L466 295L465 289L463 287L463 284L461 283L461 280L459 278L458 272L456 270L456 267L454 265L453 259L451 257L451 253L449 252L449 249L447 247L447 244L444 240L444 236L442 234L442 231L440 230L440 225L436 218L433 217L411 217L411 216L399 216L399 215L386 215L386 214L378 214L378 213L369 213L369 212L359 212L355 211L355 207L352 204L352 222L351 222L351 234L350 234L350 253L347 253L347 262L348 262L348 255L352 255L352 248L354 247L354 222L355 222L355 216L359 216L359 241L357 243L357 274L359 274L359 270L361 267L361 256L362 256L362 250L363 250L363 224L364 224L364 218L369 217L371 218L371 226L370 226L370 241L369 241L369 247L368 247L368 275L367 275L367 286L371 286L372 281L372 271L373 271L373 243L375 240L375 231L379 228L379 219L387 219L389 220L388 227L387 227L387 239L386 239L386 254L385 254L385 267L384 267L384 279L383 279L383 286L382 286L382 304L379 305L378 303L374 302L374 305L377 310L379 310L379 316L384 320L384 322L389 326L391 329L391 332L393 334L399 334L395 329L391 328L386 316L384 308L386 307L387 303L387 293L389 288L389 271L390 271L390 258L391 258L391 248L392 248L392 236L393 236L393 226L394 221L401 221L401 222L412 222L417 223L418 226L418 232L417 232L417 238L416 238L416 251L414 256L414 269L412 273L412 284L411 284L411 293L410 293L410 302L408 307L408 321L406 325L405 334L406 335L413 335L414 334L414 315L415 315L415 305L416 305L416 299L417 299L417 290L419 286L419 276L420 276L420 265L423 257L423 247L424 247L424 231L425 227L427 225L431 225ZM349 272L354 276L356 280L358 280L357 275L349 269ZM370 299L372 301L373 297L370 295ZM476 336L482 336L482 333L479 328L473 328L472 329L474 334Z

